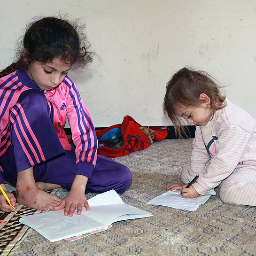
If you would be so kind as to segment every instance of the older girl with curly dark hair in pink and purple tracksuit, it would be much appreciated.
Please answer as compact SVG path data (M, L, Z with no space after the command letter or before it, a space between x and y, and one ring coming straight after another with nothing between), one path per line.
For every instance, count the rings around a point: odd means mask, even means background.
M71 68L92 61L83 27L56 17L31 23L16 62L0 72L0 185L11 204L39 210L89 210L85 192L115 189L122 194L131 185L131 171L108 157L97 155L98 141L92 117L77 86L67 76ZM75 149L64 132L68 118ZM17 199L4 179L16 186ZM61 198L48 189L66 188ZM0 209L14 211L0 194Z

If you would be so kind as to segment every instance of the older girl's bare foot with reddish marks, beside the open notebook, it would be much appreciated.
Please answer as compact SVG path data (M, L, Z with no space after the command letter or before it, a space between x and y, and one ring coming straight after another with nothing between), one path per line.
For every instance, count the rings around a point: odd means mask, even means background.
M56 195L48 194L38 186L17 186L17 202L38 210L53 209L62 202Z

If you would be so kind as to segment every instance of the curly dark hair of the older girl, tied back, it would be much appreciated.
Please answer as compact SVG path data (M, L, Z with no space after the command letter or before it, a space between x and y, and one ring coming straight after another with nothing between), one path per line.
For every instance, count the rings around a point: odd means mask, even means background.
M84 68L93 56L84 29L79 20L70 22L57 17L44 17L27 24L16 61L0 72L0 78L16 69L27 70L32 62L46 63L54 58L71 64L73 70Z

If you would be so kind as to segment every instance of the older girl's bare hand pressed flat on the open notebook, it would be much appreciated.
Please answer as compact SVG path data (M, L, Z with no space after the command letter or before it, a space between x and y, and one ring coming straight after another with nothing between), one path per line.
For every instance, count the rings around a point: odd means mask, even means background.
M69 194L62 200L62 202L54 207L54 210L64 209L64 215L72 217L75 209L78 209L78 214L81 214L82 207L88 211L90 209L87 199L85 197L85 187L88 178L83 175L76 175L71 186Z

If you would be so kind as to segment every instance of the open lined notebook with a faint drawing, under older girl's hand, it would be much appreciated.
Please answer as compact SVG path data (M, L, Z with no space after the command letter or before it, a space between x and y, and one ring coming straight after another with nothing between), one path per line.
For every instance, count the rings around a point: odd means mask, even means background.
M153 216L151 213L125 204L115 190L98 194L88 200L90 210L83 208L73 217L64 216L64 209L23 216L20 222L30 226L49 241L76 240L111 227L120 220Z

